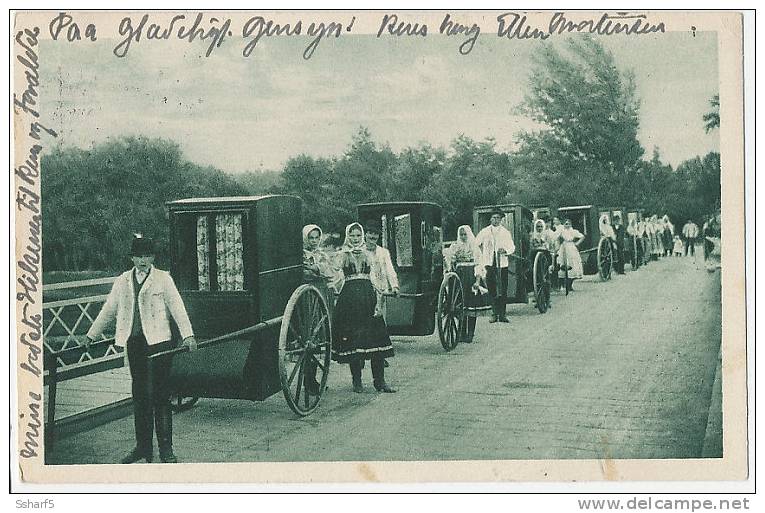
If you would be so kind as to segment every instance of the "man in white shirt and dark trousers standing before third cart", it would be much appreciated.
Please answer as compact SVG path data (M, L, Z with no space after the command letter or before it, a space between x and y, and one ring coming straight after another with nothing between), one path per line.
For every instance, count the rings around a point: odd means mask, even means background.
M495 209L491 224L478 232L475 243L481 251L480 264L486 267L486 284L492 298L492 318L489 322L509 322L505 313L507 278L510 255L515 252L512 234L502 226L505 213Z

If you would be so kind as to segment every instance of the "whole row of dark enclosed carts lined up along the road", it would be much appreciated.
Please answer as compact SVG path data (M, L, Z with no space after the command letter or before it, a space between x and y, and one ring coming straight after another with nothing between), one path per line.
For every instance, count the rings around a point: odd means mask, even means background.
M263 401L283 393L300 416L318 406L326 390L331 362L332 298L303 283L302 202L294 196L194 198L167 204L171 273L189 312L196 351L179 347L173 354L170 387L176 409L200 397ZM556 212L546 206L508 204L476 207L473 228L489 224L492 210L505 212L504 226L516 242L508 272L510 303L531 303L540 313L550 306L554 256L533 250L535 218ZM599 219L624 209L593 205L564 207L585 237L580 245L585 274L611 277L615 259L636 269L645 257L639 237L629 237L617 255L600 236ZM630 212L640 216L640 212ZM386 300L391 335L438 333L446 351L456 347L466 322L466 297L472 286L456 272L444 272L441 207L434 203L396 202L358 206L361 223L382 226L381 244L391 253L400 293ZM308 368L321 384L309 394Z

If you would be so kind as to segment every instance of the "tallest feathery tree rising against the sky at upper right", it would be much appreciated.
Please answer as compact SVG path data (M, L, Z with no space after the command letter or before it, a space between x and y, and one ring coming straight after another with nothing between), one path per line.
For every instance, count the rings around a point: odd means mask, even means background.
M534 56L520 112L541 128L520 136L523 194L558 204L623 202L644 153L633 75L592 37L570 38L564 49L550 44Z

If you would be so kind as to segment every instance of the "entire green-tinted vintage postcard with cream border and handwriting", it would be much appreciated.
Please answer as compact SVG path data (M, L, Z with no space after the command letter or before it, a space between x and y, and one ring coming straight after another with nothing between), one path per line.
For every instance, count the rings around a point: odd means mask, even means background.
M22 482L747 479L741 13L11 15Z

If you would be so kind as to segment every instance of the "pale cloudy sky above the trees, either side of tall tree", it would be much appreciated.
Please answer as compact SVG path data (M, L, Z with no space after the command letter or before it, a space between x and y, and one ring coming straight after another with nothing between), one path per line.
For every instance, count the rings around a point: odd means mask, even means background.
M322 40L304 60L307 36L263 39L248 57L228 40L205 57L206 44L168 41L131 47L116 41L40 49L43 117L58 144L89 148L108 138L171 139L201 165L229 173L278 170L299 154L342 154L360 126L394 151L448 146L460 134L517 147L535 125L517 115L540 43L482 34L468 55L460 39L344 35ZM713 32L602 39L621 70L636 76L638 138L646 158L658 147L673 166L719 151L719 131L702 115L718 92Z

